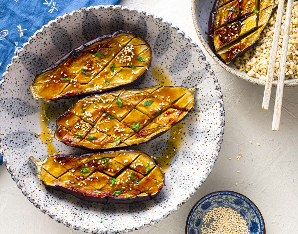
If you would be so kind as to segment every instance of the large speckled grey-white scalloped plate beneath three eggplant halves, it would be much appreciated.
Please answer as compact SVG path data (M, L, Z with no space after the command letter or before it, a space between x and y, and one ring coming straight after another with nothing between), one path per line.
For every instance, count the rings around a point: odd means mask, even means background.
M166 186L154 199L134 205L102 205L84 202L62 192L47 190L37 178L28 157L42 159L47 148L36 133L45 104L35 101L29 90L34 75L64 53L101 34L125 29L145 38L152 48L152 66L125 88L158 83L196 87L195 106L180 124L136 149L161 162L173 161L165 173ZM168 78L160 78L165 76ZM156 78L156 80L153 78ZM170 77L170 78L169 78ZM173 80L173 81L171 81ZM46 104L48 126L76 99ZM0 100L0 147L4 163L23 194L51 218L77 230L92 233L125 233L149 226L167 217L185 203L206 180L218 157L224 132L224 104L220 86L205 56L189 37L163 19L120 6L91 6L50 21L24 43L2 79ZM43 113L43 112L42 112ZM175 127L174 127L175 128ZM177 131L176 135L175 132ZM171 135L171 140L169 137ZM183 136L172 142L173 136ZM54 140L61 154L82 151ZM167 149L169 147L169 149ZM176 149L176 152L173 151ZM159 158L161 155L163 159Z

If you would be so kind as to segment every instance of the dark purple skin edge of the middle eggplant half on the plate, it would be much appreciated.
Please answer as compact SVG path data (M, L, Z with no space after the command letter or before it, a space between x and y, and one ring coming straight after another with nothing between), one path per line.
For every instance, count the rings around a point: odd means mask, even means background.
M174 86L169 86L169 87L174 87ZM147 87L146 87L146 88L147 88ZM134 90L134 89L130 89L130 90ZM111 93L111 92L110 92L110 93ZM109 93L107 93L107 94L109 94ZM85 97L85 98L89 98L89 97L92 97L92 96L93 96L93 95L90 95L90 96ZM77 102L79 102L79 101L80 101L80 100L78 100ZM73 106L75 106L77 102L75 102L72 106L70 106L69 109L68 109L67 111L65 111L65 113L69 112L70 109L71 109ZM192 107L192 108L193 108L193 107ZM192 108L191 108L191 109L192 109ZM191 110L191 109L190 109L190 110ZM187 110L187 111L189 112L190 110ZM64 115L64 113L63 113L63 115ZM132 144L132 145L130 145L129 147L132 147L132 146L139 146L140 144L144 144L144 143L147 143L147 142L149 142L149 141L151 141L151 140L154 140L155 138L157 138L157 137L163 135L164 133L166 133L167 131L169 131L169 130L170 130L172 127L174 127L176 124L179 124L181 121L183 121L183 120L187 117L187 115L188 115L188 114L186 114L183 118L181 118L181 120L177 121L176 123L171 124L171 127L170 127L169 129L167 129L167 130L165 130L165 131L163 131L163 132L160 132L159 134L154 135L153 137L151 137L151 138L148 139L147 141L140 142L140 143L136 143L136 144ZM58 117L58 118L60 118L60 117ZM57 131L58 128L59 128L59 125L56 124L56 130L55 130L55 133L56 133L56 131ZM55 139L58 140L56 137L55 137ZM65 143L65 142L62 141L62 140L59 140L59 141L62 142L63 144L65 144L66 146L70 146L70 145L68 145L67 143ZM91 148L87 148L87 147L85 147L85 146L73 146L73 147L80 148L80 149L83 149L83 150L88 150L88 151L98 151L98 152L102 152L102 151L107 150L107 149L91 149ZM120 150L120 149L124 149L124 148L126 148L126 147L127 147L127 146L119 146L119 147L114 147L113 149L119 149L119 150Z

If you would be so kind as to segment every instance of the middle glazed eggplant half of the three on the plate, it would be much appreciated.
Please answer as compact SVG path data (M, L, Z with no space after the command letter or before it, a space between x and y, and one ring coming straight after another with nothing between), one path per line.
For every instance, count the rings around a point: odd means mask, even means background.
M57 119L54 136L66 145L89 150L144 143L187 115L193 108L193 91L153 86L89 96Z

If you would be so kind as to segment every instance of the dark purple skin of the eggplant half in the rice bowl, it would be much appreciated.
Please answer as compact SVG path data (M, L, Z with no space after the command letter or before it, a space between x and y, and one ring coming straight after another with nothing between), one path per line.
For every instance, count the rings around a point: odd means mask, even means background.
M212 10L210 12L210 16L209 16L209 21L208 21L208 35L207 35L207 39L208 39L208 44L209 44L209 47L210 49L213 51L213 53L221 60L223 61L225 64L229 64L229 63L226 63L226 61L218 54L218 52L215 50L215 46L214 46L214 24L215 24L215 15L217 13L217 9L218 9L218 4L221 0L216 0L213 4L213 7L212 7ZM276 8L277 6L275 6L274 8L272 8L272 12L273 10ZM271 12L271 15L272 15L272 12ZM271 16L270 16L271 17ZM269 18L270 18L269 17ZM239 57L239 56L242 56L247 50L249 50L250 48L252 48L256 43L257 41L260 39L260 35L259 35L259 38L250 46L248 46L245 50L243 50L241 53L237 54L233 59ZM231 59L231 61L233 60ZM230 62L231 62L230 61Z

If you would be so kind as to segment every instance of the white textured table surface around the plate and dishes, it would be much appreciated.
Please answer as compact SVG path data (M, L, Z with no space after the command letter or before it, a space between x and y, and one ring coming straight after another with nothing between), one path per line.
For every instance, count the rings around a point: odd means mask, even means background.
M232 190L249 197L263 214L267 233L298 233L298 87L285 88L280 132L272 132L276 89L271 94L270 109L261 110L264 87L233 77L208 56L193 26L190 0L124 0L121 5L158 15L198 43L218 77L226 111L221 152L206 182L174 214L133 234L185 233L190 209L201 197L217 190ZM239 162L238 152L244 156ZM62 234L71 233L71 229L35 208L2 166L0 233Z

